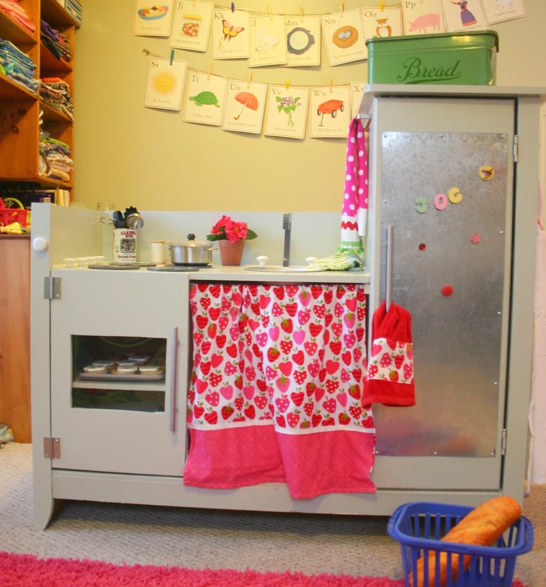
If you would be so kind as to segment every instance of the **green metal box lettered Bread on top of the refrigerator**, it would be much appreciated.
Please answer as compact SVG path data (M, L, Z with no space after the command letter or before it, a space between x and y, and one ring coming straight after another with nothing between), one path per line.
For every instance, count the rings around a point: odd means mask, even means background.
M494 86L498 34L469 30L367 39L368 83Z

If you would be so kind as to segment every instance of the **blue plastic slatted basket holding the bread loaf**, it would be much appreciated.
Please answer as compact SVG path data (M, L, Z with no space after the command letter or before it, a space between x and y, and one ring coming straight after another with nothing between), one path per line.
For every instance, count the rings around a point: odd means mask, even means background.
M441 538L474 508L415 501L396 508L387 524L387 533L400 542L406 587L417 587L417 575L412 573L419 557L447 557L445 587L510 587L514 579L516 558L529 552L533 546L533 526L521 516L500 537L494 546L474 546L441 541ZM438 555L436 555L438 553ZM470 564L463 568L463 557L453 560L454 554L469 555ZM452 580L452 565L458 566ZM429 577L428 565L423 566L423 585L442 587L440 566L434 565ZM411 581L410 581L411 579Z

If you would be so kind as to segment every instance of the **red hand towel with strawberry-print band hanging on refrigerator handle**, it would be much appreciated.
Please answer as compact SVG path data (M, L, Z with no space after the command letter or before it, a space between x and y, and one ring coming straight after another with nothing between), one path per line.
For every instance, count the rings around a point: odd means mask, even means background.
M364 381L363 406L414 406L412 317L385 302L374 312L372 348Z

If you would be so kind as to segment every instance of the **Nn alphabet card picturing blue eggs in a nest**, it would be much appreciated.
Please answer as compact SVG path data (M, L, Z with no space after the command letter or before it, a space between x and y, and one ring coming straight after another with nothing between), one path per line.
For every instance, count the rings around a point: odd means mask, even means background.
M367 58L360 10L326 14L322 17L322 28L330 66Z

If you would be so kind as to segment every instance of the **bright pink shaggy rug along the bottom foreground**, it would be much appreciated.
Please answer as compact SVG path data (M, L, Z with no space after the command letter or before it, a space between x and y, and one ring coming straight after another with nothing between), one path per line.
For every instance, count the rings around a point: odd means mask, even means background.
M189 569L153 565L115 565L102 561L39 559L0 552L3 587L403 587L402 579L258 573L255 570ZM514 581L512 587L525 587Z

